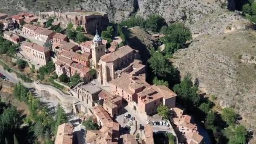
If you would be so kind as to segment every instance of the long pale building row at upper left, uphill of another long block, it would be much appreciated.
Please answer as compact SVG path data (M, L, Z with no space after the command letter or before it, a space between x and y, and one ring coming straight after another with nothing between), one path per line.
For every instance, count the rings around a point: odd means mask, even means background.
M22 33L27 37L31 37L31 38L46 42L46 40L50 40L53 37L53 35L55 35L56 32L45 29L43 27L37 27L31 24L24 24L22 28Z

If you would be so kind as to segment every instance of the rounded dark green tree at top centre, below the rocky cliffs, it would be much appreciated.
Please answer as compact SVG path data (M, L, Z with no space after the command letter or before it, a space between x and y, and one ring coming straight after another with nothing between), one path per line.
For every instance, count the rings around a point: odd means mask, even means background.
M152 32L159 32L165 24L165 19L157 14L151 14L146 20L146 28Z

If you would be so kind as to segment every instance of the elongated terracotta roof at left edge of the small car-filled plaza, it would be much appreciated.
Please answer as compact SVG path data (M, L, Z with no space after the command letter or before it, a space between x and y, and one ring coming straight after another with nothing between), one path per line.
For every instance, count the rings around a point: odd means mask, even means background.
M100 106L100 105L95 106L95 107L93 107L93 109L94 109L94 115L99 117L99 119L101 120L101 122L102 122L101 125L105 125L109 122L113 122L113 120L111 119L109 114L105 111L105 109L102 106Z

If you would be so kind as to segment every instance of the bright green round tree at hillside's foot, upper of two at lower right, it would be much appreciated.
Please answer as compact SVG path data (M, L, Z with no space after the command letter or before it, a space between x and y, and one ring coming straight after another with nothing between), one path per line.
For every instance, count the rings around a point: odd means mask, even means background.
M235 124L237 114L234 109L230 107L225 107L222 109L222 119L228 124L233 125Z

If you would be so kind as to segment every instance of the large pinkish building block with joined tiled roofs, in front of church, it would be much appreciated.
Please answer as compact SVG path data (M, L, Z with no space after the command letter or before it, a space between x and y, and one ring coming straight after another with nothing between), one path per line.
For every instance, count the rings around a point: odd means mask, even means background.
M141 115L156 114L160 104L175 107L176 93L163 85L149 85L144 73L131 75L122 72L110 81L110 88L113 95L121 96L129 107Z

